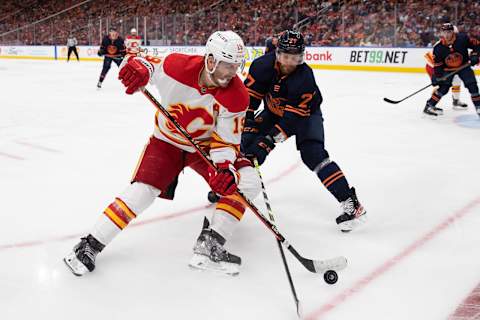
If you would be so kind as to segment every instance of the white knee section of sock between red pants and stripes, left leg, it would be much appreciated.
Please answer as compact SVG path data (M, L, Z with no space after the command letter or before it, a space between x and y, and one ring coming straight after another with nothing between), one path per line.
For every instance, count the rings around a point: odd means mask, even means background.
M137 216L147 209L160 195L160 190L151 185L134 182L130 184L119 196Z

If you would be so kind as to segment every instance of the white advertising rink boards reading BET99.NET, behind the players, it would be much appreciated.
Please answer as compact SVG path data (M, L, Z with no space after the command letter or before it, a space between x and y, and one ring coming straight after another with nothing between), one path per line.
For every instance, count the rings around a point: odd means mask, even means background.
M78 46L82 61L101 61L98 46ZM203 55L204 47L147 46L146 52L164 57L172 52ZM425 72L425 54L432 48L307 47L305 60L313 69ZM263 55L264 47L247 47L247 66ZM0 59L66 60L66 46L0 46ZM479 70L476 70L480 74Z

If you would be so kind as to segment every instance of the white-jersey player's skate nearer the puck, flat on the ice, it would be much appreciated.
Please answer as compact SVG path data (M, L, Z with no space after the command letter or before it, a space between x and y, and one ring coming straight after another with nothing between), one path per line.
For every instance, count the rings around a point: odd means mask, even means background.
M229 253L223 247L225 239L215 230L209 228L208 220L193 247L193 257L189 266L195 269L212 270L232 276L239 274L242 259Z

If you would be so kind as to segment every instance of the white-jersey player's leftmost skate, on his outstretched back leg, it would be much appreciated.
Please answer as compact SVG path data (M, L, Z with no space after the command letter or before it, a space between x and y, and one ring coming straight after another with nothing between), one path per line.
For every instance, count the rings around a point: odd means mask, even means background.
M73 247L63 261L76 276L83 276L95 269L95 258L105 248L105 245L95 239L91 234L81 238L80 242Z

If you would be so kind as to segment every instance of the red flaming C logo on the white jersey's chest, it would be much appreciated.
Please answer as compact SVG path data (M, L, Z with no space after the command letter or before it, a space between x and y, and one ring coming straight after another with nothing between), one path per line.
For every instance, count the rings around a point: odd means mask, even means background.
M204 107L192 108L179 103L171 105L168 111L192 138L200 137L215 123L213 116ZM167 122L166 126L173 134L180 134L172 123Z

